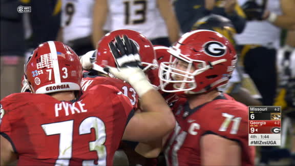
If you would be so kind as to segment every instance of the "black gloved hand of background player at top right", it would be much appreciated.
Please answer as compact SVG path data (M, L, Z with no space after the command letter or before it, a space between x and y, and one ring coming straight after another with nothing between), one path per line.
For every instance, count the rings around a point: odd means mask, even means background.
M247 1L242 5L242 9L246 14L247 20L262 20L264 9L255 1Z

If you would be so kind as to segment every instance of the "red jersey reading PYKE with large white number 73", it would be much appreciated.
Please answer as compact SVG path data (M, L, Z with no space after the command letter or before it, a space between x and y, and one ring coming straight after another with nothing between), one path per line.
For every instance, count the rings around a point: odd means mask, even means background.
M133 114L128 97L97 85L75 101L16 93L1 100L1 135L19 165L112 165Z

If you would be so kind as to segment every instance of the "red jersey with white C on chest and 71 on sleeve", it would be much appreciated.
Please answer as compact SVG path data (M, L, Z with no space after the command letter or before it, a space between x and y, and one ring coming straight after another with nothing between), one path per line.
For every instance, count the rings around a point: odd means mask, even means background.
M237 140L242 149L242 165L254 165L255 147L248 146L245 105L223 94L195 109L190 109L188 102L176 103L176 108L177 125L164 149L167 165L200 165L199 143L205 134Z

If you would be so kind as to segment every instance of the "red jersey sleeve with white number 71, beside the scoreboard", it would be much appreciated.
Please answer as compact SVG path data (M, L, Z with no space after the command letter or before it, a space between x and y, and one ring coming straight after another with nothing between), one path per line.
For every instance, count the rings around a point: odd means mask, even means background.
M236 101L219 102L208 110L205 134L217 134L231 140L248 139L247 107Z

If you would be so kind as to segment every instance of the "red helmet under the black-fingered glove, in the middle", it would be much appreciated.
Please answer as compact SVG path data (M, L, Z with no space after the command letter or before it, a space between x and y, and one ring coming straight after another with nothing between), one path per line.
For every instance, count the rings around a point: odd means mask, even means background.
M143 71L147 72L148 69L158 68L155 51L151 41L139 32L128 29L120 29L106 34L98 42L96 62L93 66L94 70L104 73L103 67L116 67L115 59L109 47L109 43L111 41L115 43L115 37L118 35L120 37L127 35L135 42L136 46L138 47L142 65L144 67Z

